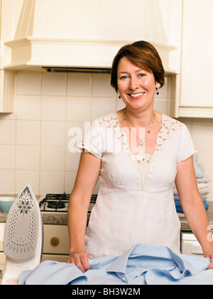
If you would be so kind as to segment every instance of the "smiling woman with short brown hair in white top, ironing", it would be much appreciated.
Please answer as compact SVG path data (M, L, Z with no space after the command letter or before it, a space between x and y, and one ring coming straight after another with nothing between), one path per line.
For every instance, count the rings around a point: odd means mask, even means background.
M84 272L89 269L89 257L123 253L136 243L168 246L180 253L174 182L204 256L213 260L190 133L181 122L153 110L154 95L164 85L164 69L155 48L145 41L122 47L114 58L111 85L126 108L94 120L84 137L70 195L67 263L75 263ZM101 187L84 238L99 175ZM209 267L213 268L213 262Z

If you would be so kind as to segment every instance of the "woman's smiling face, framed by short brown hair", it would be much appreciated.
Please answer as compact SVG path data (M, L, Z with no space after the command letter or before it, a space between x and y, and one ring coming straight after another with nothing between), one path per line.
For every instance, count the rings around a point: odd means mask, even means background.
M122 100L133 110L153 106L156 88L160 83L155 82L153 73L143 70L123 57L117 69L118 89Z

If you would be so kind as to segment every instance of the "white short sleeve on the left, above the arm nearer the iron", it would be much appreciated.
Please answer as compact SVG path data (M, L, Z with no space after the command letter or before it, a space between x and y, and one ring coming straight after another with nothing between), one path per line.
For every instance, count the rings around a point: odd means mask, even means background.
M79 149L84 149L85 152L90 152L94 156L102 159L102 136L99 128L99 123L94 120L84 134L82 143L77 146Z

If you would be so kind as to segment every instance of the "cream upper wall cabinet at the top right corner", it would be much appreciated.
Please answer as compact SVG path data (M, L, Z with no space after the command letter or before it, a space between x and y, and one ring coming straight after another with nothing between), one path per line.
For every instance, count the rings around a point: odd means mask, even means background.
M213 117L213 1L184 0L179 117Z

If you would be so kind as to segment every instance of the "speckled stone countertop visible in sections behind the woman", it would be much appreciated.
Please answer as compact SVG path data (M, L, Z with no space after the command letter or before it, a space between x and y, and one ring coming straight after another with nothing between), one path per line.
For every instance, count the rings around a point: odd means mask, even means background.
M208 201L209 209L207 211L207 216L209 219L209 224L213 229L213 201ZM0 211L0 222L6 222L7 213ZM43 224L50 225L67 225L67 214L42 214ZM180 224L182 231L190 231L190 226L187 223L185 217L180 217Z

